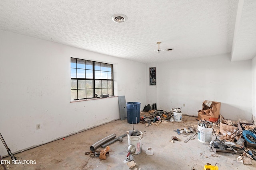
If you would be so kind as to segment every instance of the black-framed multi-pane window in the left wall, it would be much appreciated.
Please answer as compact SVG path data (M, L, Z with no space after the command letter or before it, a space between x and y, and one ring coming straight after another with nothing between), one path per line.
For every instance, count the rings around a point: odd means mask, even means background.
M114 96L113 64L71 57L70 77L71 100Z

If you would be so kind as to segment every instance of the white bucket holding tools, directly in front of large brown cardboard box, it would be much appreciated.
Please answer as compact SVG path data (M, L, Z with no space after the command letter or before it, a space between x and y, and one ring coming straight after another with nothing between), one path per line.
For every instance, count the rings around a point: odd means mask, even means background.
M203 121L206 127L202 127L202 122L198 121L198 141L208 144L212 141L212 122ZM207 128L207 126L211 126L211 128Z

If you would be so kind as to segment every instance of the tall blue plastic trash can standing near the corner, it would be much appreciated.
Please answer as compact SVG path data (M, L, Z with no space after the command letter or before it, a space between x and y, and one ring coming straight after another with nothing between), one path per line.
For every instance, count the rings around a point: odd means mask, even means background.
M130 124L140 123L140 102L127 102L127 122ZM137 121L136 121L137 118Z

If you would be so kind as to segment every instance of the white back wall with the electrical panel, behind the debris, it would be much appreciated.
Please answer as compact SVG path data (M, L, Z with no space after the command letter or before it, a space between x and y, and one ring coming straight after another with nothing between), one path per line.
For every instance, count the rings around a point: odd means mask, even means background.
M156 89L147 88L147 102L154 98L158 108L182 107L184 114L197 116L202 102L212 100L221 102L226 119L251 121L251 63L231 62L229 55L157 63ZM146 71L152 65L147 64Z

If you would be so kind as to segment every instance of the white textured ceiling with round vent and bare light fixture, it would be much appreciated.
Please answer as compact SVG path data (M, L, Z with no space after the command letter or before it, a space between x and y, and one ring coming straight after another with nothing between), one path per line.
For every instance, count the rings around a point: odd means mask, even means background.
M0 29L141 63L238 61L256 56L255 9L256 0L0 0ZM174 50L156 53L158 41Z

